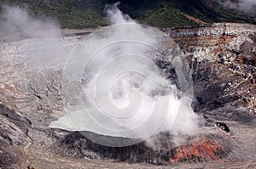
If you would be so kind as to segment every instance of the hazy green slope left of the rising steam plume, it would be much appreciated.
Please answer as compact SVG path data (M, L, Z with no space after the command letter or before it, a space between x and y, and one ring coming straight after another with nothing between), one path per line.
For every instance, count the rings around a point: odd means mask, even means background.
M35 17L58 20L63 28L84 28L108 25L104 17L105 3L93 0L1 0L2 4L29 8Z

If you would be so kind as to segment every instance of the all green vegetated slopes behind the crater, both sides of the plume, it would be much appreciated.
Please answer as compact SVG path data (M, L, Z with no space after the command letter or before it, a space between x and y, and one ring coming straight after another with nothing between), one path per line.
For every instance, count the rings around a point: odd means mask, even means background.
M140 23L157 27L196 25L184 14L212 22L241 22L256 24L256 16L237 14L223 8L225 0L120 0L120 8ZM63 28L84 28L108 25L104 7L116 0L0 0L2 4L23 5L35 17L59 20Z

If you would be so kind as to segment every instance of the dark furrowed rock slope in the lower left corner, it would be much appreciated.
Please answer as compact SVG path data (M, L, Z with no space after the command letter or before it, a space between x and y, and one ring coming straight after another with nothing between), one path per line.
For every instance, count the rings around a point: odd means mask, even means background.
M30 125L15 110L9 109L3 103L0 104L0 118L0 167L8 168L22 158L18 149L26 146Z

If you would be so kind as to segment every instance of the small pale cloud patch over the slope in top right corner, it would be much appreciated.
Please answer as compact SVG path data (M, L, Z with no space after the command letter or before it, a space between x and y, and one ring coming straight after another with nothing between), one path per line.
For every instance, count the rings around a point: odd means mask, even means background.
M238 0L226 1L224 7L240 10L247 14L256 14L256 1L255 0Z

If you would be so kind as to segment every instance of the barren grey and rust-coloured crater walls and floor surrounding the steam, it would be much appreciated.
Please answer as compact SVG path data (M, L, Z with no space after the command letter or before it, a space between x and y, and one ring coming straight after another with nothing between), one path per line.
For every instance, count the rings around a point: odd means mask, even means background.
M165 31L189 62L194 110L206 119L195 136L183 136L187 141L180 146L172 143L172 135L162 133L156 136L154 148L146 142L110 148L91 142L79 132L50 129L49 123L64 114L64 63L52 59L47 66L37 58L22 57L33 54L33 48L40 48L41 40L3 41L0 167L152 168L137 162L173 166L189 163L183 167L212 168L255 166L256 26L214 24ZM68 52L86 37L84 34L68 33L61 38L61 46ZM67 53L62 57L67 57ZM168 60L160 59L158 64L170 79L176 78L175 70L168 68L172 67Z

